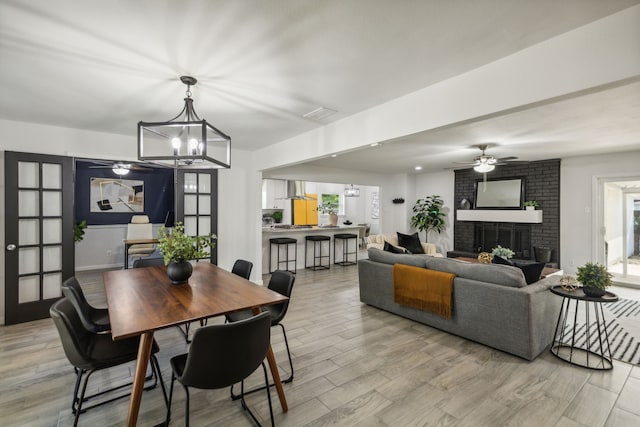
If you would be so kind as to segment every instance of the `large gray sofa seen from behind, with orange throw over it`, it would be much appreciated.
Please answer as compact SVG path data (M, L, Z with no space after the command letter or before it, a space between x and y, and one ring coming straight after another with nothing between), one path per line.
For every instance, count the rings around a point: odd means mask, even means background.
M369 249L358 261L360 301L365 304L459 335L527 360L535 359L552 341L562 298L549 288L560 283L550 276L530 285L516 267L473 264L427 255L393 254ZM454 273L453 317L393 301L393 264Z

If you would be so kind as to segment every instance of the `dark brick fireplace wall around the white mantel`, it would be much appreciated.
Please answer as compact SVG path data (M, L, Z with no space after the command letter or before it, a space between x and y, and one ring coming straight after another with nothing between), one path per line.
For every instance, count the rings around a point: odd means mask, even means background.
M541 223L492 220L488 214L482 221L454 221L454 253L490 252L496 245L509 247L520 259L534 259L535 247L551 249L551 263L560 264L560 160L542 160L524 164L498 166L491 178L525 178L524 200L537 200L543 212ZM473 201L474 183L482 175L473 169L455 171L455 205ZM473 205L473 203L472 203Z

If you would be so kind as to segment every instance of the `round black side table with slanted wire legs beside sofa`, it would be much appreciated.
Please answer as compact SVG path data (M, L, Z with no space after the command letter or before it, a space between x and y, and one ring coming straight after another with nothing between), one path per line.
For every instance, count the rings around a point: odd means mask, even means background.
M597 370L613 369L602 303L618 301L618 296L606 292L602 297L588 297L582 288L567 291L560 286L553 286L550 290L563 298L551 353L573 365ZM581 301L584 302L581 313L584 317L581 316L580 320L584 319L584 324L578 324Z

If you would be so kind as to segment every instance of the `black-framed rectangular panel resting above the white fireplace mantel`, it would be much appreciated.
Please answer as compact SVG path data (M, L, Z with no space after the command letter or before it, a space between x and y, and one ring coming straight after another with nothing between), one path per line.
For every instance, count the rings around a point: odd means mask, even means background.
M522 209L524 178L477 180L474 194L475 209Z

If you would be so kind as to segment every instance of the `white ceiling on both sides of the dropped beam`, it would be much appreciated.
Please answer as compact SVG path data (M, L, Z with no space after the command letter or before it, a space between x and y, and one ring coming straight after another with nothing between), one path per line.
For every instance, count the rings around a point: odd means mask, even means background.
M2 0L0 118L133 139L138 121L179 112L188 74L200 117L255 150L638 3ZM314 163L435 170L487 142L525 160L634 149L639 99L631 82ZM337 112L302 117L321 106Z

